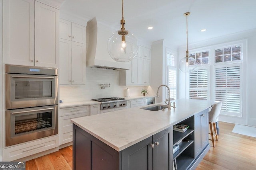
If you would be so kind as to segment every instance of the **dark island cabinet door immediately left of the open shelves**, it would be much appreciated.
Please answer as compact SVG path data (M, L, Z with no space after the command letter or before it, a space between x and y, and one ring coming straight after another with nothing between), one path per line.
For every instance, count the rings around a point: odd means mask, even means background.
M172 130L165 129L153 135L153 169L172 169Z

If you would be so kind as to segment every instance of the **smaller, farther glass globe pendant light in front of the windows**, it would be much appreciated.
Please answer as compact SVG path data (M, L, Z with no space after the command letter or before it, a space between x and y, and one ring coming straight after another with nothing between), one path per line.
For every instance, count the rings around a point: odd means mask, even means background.
M196 59L188 56L188 16L190 12L186 12L184 16L187 19L187 51L186 57L182 58L179 63L180 71L182 72L192 72L196 68Z

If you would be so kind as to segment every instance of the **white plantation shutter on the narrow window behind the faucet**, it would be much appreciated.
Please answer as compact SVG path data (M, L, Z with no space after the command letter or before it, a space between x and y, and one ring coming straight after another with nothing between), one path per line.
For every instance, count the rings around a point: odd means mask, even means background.
M176 99L176 69L168 66L168 87L170 88L170 97Z

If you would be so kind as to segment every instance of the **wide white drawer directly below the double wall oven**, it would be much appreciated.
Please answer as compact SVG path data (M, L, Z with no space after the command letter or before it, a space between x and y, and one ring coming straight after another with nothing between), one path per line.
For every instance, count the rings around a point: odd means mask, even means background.
M30 143L4 149L4 161L12 161L59 146L59 136L48 137Z

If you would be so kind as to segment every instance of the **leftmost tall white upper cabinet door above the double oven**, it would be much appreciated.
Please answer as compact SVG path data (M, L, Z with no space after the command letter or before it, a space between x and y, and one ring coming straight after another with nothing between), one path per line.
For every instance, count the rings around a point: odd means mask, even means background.
M3 1L4 63L34 66L34 0Z

